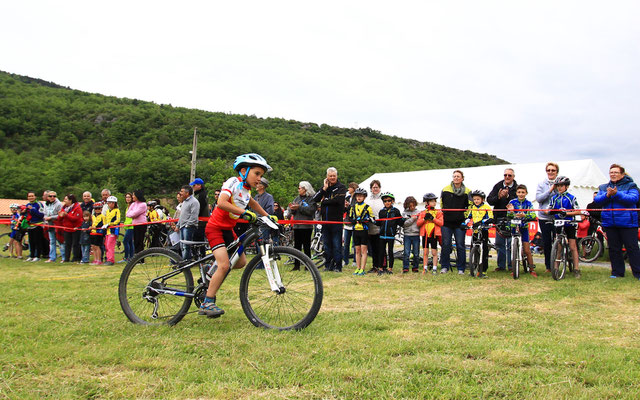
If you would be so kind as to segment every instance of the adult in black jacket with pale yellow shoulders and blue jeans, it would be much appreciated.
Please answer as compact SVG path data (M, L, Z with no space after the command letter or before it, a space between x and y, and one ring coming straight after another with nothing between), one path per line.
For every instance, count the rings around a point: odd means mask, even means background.
M452 237L454 236L456 239L456 267L458 268L458 274L463 275L467 267L464 242L466 229L462 227L462 223L465 219L465 211L471 204L469 199L471 191L464 186L463 182L464 174L462 171L458 169L453 171L451 184L445 186L440 194L440 208L443 210L456 210L442 212L442 254L440 256L440 273L442 274L446 274L451 269Z

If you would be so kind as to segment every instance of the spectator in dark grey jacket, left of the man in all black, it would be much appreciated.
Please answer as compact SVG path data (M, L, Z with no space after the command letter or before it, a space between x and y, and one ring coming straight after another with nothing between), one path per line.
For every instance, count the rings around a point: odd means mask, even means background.
M302 181L298 184L298 196L289 203L288 214L294 221L313 221L316 203L313 200L316 192L311 183ZM293 247L301 250L311 258L311 233L313 224L293 224ZM300 269L300 261L296 260L294 269Z

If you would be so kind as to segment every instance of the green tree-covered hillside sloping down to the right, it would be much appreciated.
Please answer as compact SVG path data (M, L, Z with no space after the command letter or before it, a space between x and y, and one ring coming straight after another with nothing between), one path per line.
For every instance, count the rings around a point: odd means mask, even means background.
M230 176L236 155L256 152L274 167L270 192L281 201L296 194L300 180L317 187L329 166L347 182L376 172L504 163L370 128L186 109L0 72L0 196L102 187L171 195L188 183L194 127L197 175L209 190Z

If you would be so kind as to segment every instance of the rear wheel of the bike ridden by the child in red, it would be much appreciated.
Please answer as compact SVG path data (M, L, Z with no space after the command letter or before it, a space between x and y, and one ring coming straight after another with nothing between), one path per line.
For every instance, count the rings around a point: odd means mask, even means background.
M152 248L136 254L120 275L118 297L122 311L131 322L144 325L175 325L189 310L191 298L160 294L157 289L193 292L189 269L176 271L179 254ZM156 279L163 277L160 279Z

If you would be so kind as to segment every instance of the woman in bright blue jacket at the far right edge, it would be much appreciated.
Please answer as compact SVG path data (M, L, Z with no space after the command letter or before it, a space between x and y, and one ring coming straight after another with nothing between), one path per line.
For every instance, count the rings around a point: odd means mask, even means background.
M609 167L609 183L600 185L594 201L602 210L602 227L609 242L611 259L611 278L624 276L624 257L622 246L627 249L631 272L640 279L640 249L638 248L638 213L621 210L636 208L640 191L624 168L618 164Z

